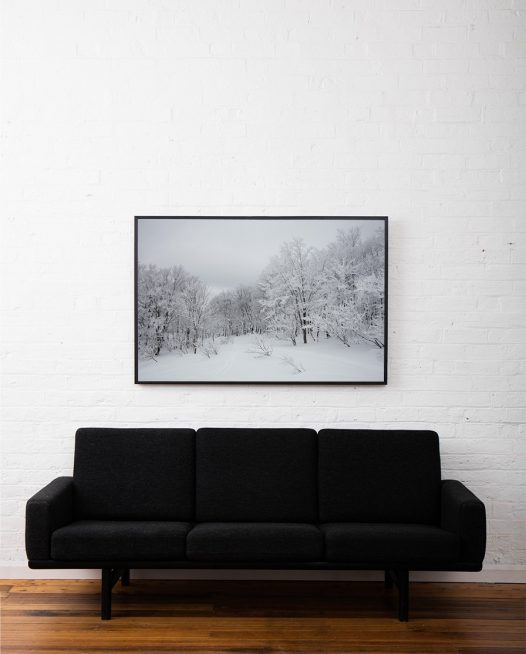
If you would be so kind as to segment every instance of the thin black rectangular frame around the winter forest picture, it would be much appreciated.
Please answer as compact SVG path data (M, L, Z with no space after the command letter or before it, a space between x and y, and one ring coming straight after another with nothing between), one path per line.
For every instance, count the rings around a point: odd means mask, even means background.
M369 221L377 221L378 226L383 229L383 350L382 370L379 379L301 379L300 374L290 379L152 379L145 378L147 375L142 375L141 378L141 360L139 354L139 275L140 275L140 227L144 221L163 221L158 223L163 227L164 221L172 221L173 225L181 225L180 221L195 221L195 225L203 225L201 221L213 221L210 223L214 227L220 221L258 221L258 225L263 224L259 221L341 221L343 227L345 223L362 222L368 224ZM179 221L179 222L178 222ZM150 223L151 225L152 223ZM168 224L168 223L166 223ZM246 223L245 223L246 225ZM217 244L220 246L220 244ZM307 245L315 247L315 245L308 243ZM173 262L172 265L177 265ZM162 266L161 266L162 267ZM192 274L192 271L188 271ZM240 280L240 283L242 280ZM142 315L142 314L141 314ZM135 358L135 384L201 384L201 385L385 385L387 384L387 361L388 361L388 217L387 216L135 216L134 220L134 358ZM328 336L327 336L328 337ZM349 346L351 347L351 346ZM153 357L152 357L153 358ZM378 358L378 353L377 353Z

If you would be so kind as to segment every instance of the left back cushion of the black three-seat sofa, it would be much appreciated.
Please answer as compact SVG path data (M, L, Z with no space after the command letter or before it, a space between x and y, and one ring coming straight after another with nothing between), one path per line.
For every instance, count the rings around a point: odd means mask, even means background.
M192 520L194 466L193 429L79 429L75 515Z

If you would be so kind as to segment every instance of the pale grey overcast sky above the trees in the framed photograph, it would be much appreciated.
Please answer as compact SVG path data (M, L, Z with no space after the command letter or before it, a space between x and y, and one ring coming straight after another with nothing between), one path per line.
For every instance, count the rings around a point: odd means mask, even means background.
M255 284L285 241L300 237L321 249L336 239L339 229L356 226L367 238L383 221L142 218L138 221L138 258L141 264L159 268L183 266L215 295L240 284Z

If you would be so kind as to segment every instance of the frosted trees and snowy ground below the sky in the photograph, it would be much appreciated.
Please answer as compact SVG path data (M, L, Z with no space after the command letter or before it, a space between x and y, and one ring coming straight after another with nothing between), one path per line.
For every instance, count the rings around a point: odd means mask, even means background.
M385 228L362 227L342 221L316 247L298 224L254 282L219 290L177 261L142 262L139 247L138 381L383 381Z

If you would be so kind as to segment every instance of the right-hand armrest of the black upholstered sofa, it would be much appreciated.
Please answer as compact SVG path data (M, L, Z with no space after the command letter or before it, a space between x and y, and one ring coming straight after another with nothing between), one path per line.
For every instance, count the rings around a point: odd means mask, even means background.
M460 539L462 563L482 565L486 552L486 509L484 504L460 481L442 481L442 529Z

